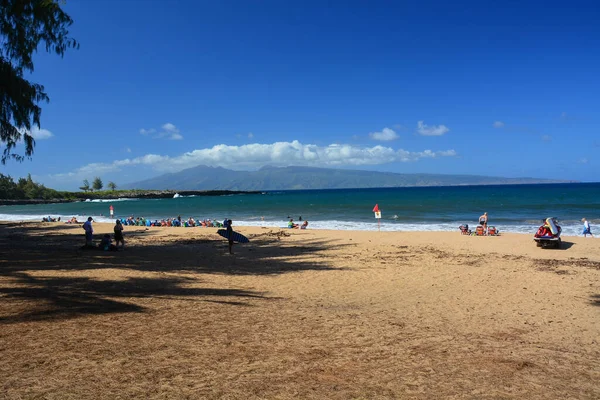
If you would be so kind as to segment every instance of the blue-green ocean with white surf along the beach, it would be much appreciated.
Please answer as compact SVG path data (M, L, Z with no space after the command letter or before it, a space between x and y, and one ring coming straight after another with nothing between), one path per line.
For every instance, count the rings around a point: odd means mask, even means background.
M372 212L382 212L380 226ZM600 225L600 183L411 187L274 191L230 196L173 199L118 199L66 204L0 206L0 220L41 221L44 216L68 219L88 216L108 222L116 217L162 219L230 218L234 226L283 227L289 218L309 221L310 229L382 231L458 231L477 225L488 213L489 225L501 232L534 233L543 218L557 217L564 235L580 235L581 218ZM599 231L600 233L600 231Z

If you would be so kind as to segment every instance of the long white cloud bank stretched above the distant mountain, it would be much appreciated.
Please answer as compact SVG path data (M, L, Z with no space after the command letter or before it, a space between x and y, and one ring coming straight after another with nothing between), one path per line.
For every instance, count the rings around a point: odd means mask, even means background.
M347 144L317 146L302 144L297 140L272 144L253 143L243 146L220 144L175 157L147 154L132 159L116 160L112 163L88 164L73 172L53 175L52 178L83 179L86 176L116 172L123 167L133 166L150 167L159 172L177 172L197 165L231 169L256 169L264 165L360 166L412 162L423 158L454 157L456 155L454 150L411 152L380 145L374 147L358 147Z

